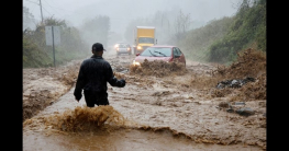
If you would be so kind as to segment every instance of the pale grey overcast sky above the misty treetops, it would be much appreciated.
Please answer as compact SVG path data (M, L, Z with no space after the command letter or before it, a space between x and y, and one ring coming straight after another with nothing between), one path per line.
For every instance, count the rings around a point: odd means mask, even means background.
M44 18L66 20L78 26L85 20L97 15L108 15L111 31L123 31L130 20L147 18L157 11L181 9L190 13L192 21L208 22L213 19L232 16L240 0L23 0L23 5L37 21L41 21L41 7Z

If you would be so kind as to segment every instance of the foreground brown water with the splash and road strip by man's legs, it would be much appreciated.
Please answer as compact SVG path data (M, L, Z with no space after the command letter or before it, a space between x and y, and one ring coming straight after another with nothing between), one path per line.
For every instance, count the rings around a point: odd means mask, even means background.
M34 118L26 120L23 128L23 150L38 151L38 150L63 150L63 151L79 151L79 150L260 150L257 147L231 144L220 146L210 143L196 143L191 138L186 138L186 135L177 133L167 127L149 127L144 128L144 125L138 125L130 121L127 118L122 118L121 111L118 112L112 106L100 106L101 109L90 109L90 113L84 107L85 102L77 103L74 101L71 89L67 94L63 95L57 103L48 106ZM113 103L114 104L114 103ZM78 108L78 109L77 109ZM78 121L87 119L95 113L95 119L105 117L107 114L119 116L120 119L111 120L107 124L104 121L100 127L96 125L86 126L82 130L69 131L62 130L62 128L53 127L53 123L59 124L60 120L68 120L73 117L71 113L80 111L85 116L78 116ZM84 114L86 111L86 114ZM91 112L93 111L93 112ZM97 113L97 111L100 111ZM97 114L96 114L97 113ZM79 114L80 115L80 114ZM102 116L99 116L102 115ZM76 117L75 117L76 118ZM93 117L91 117L91 121ZM49 120L47 120L49 119ZM55 119L55 121L53 121ZM45 121L46 120L46 121ZM76 119L75 119L76 120ZM118 123L120 121L120 123ZM123 123L122 123L123 121ZM74 126L79 126L79 123L74 121ZM73 125L73 124L71 124ZM71 126L70 125L70 126Z

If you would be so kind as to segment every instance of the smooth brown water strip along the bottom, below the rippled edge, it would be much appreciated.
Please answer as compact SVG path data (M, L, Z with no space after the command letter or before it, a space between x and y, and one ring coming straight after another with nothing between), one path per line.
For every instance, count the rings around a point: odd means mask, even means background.
M73 135L51 135L44 136L40 132L24 135L23 150L108 150L108 151L159 151L159 150L181 150L181 151L230 151L257 150L254 147L244 146L219 146L196 143L185 138L175 138L169 132L156 133L153 131L142 131L136 129L120 129L113 132L95 131L93 133Z

